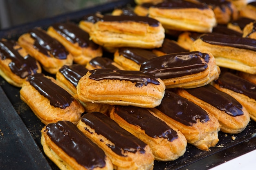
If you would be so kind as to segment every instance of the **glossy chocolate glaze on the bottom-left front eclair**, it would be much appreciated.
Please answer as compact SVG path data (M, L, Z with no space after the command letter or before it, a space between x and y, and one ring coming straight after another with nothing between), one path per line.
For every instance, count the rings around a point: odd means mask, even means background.
M46 134L61 150L88 170L106 166L106 155L72 122L58 121L46 125ZM92 161L93 160L93 161Z

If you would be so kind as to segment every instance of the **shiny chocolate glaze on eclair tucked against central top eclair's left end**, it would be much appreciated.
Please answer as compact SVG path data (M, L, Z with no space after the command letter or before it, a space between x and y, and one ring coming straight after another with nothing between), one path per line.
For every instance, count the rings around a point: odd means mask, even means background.
M75 87L77 86L79 80L81 77L83 77L87 72L88 69L86 69L84 66L80 64L73 64L71 66L62 66L59 69L59 72Z

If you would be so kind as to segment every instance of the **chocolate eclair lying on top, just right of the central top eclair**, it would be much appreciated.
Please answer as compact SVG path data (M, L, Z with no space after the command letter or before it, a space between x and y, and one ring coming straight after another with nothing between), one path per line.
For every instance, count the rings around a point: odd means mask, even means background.
M218 79L220 68L211 53L192 51L152 58L140 71L159 77L166 88L194 88Z

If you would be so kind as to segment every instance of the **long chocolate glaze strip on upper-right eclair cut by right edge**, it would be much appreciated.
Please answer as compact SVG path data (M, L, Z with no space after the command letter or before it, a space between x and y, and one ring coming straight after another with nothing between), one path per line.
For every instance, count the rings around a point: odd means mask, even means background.
M238 36L207 33L200 36L204 42L214 45L231 46L239 49L256 51L256 40L252 38L243 38Z

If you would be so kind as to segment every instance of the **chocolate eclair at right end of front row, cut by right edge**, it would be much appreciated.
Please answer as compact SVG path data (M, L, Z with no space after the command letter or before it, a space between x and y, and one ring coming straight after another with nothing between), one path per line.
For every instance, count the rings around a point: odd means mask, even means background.
M223 72L213 85L222 92L234 97L256 121L256 84L230 72Z

